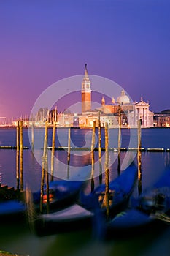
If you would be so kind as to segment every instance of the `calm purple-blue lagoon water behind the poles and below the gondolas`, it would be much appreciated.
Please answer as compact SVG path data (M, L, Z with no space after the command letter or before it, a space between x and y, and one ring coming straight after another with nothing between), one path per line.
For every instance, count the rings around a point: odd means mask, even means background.
M109 147L117 147L117 129L109 130ZM104 129L101 130L101 146L104 146ZM28 186L32 191L40 188L42 167L40 165L43 154L44 129L34 130L35 150L23 151L24 187ZM49 129L48 145L51 146L52 129ZM71 138L73 147L90 147L90 129L72 129ZM15 146L15 129L0 129L0 146ZM98 130L96 130L96 146L98 146ZM68 129L58 129L56 133L55 146L67 146ZM23 130L23 144L30 147L28 129ZM123 129L121 147L135 148L137 146L136 129ZM170 148L170 129L142 129L142 147L144 148ZM49 151L50 154L50 151ZM104 152L102 152L104 157ZM164 168L169 165L169 152L142 152L142 189L150 187L163 173ZM61 178L66 175L66 151L55 151L55 176ZM135 153L122 152L121 163L124 165L128 159L134 158ZM0 149L0 181L9 187L16 187L15 179L16 151ZM95 186L98 185L98 152L95 151L96 173ZM90 162L89 151L72 151L72 167L80 168ZM110 179L117 176L117 153L109 152ZM62 170L62 171L61 171ZM74 173L75 175L75 173ZM104 173L103 173L104 181ZM90 181L87 187L90 192ZM136 196L137 189L134 191ZM0 229L0 249L9 252L18 252L22 255L46 256L46 255L169 255L170 253L170 230L169 228L161 234L147 233L139 238L127 238L125 240L112 240L104 243L99 242L90 230L82 230L76 233L48 236L38 238L30 232L26 223L15 225L3 225Z

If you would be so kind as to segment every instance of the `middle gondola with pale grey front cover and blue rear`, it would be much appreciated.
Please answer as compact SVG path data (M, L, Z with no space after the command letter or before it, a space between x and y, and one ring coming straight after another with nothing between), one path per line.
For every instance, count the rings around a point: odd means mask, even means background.
M109 183L109 208L112 214L127 205L136 183L136 176L137 168L132 164ZM105 184L101 184L89 195L80 197L79 203L50 214L36 214L31 220L34 231L38 236L45 236L87 227L96 228L98 222L106 217L105 189Z

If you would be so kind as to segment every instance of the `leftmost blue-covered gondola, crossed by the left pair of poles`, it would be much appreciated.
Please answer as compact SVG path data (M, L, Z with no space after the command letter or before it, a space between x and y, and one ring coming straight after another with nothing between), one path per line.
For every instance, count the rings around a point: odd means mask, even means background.
M82 181L51 181L49 184L50 209L69 206L77 200ZM21 196L22 195L22 196ZM22 198L20 198L22 197ZM40 191L32 194L36 211L40 206ZM47 191L44 187L43 208L46 208ZM12 197L1 198L0 201L0 222L20 221L26 219L28 213L25 192L15 191Z

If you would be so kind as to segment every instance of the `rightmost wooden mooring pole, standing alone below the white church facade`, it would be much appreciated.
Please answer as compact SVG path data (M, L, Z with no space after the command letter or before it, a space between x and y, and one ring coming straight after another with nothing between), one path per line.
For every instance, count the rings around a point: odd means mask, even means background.
M142 162L141 162L141 120L138 120L138 193L142 193Z

